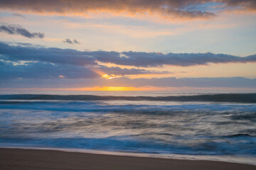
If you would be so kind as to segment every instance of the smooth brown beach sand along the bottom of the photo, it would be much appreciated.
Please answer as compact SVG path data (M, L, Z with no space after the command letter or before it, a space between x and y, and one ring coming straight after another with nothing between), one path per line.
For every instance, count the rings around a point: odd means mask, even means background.
M0 149L0 169L175 169L250 170L256 166L228 162L127 157L43 149Z

